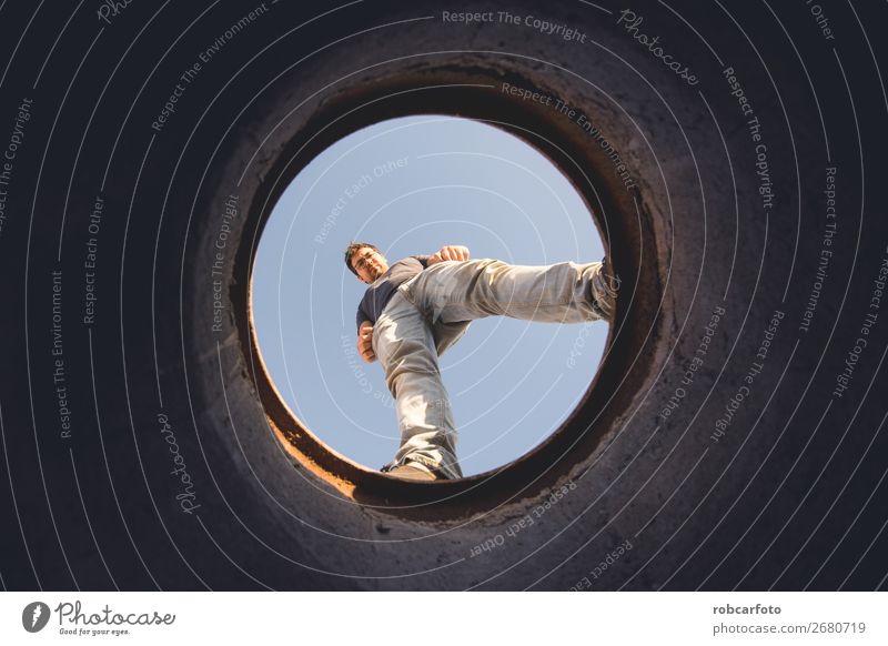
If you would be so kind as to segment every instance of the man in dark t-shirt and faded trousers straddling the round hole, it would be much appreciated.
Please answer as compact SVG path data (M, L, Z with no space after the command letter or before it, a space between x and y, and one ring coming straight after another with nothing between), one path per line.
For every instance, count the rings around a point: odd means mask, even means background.
M618 286L606 260L508 265L468 260L468 249L454 245L389 266L377 248L353 242L345 264L370 285L357 307L357 352L369 363L380 360L401 428L401 448L382 471L408 480L462 477L437 357L471 321L491 315L549 323L610 321Z

